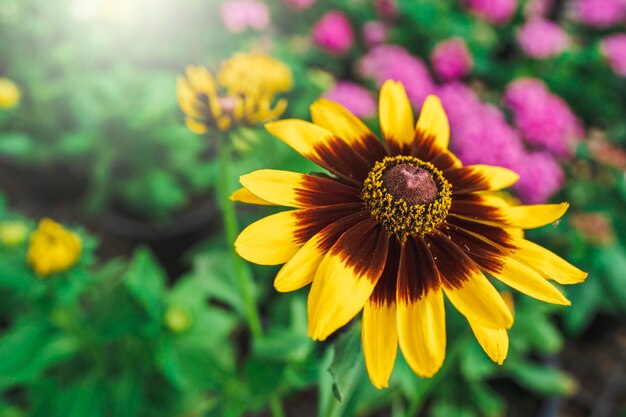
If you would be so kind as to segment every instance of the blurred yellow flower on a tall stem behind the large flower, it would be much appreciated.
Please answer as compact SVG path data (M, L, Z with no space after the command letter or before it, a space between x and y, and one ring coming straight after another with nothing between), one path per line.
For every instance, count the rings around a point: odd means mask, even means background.
M235 54L216 77L200 66L179 77L178 103L187 127L198 134L236 125L256 125L275 119L287 108L277 94L291 89L292 76L282 62L264 54Z

